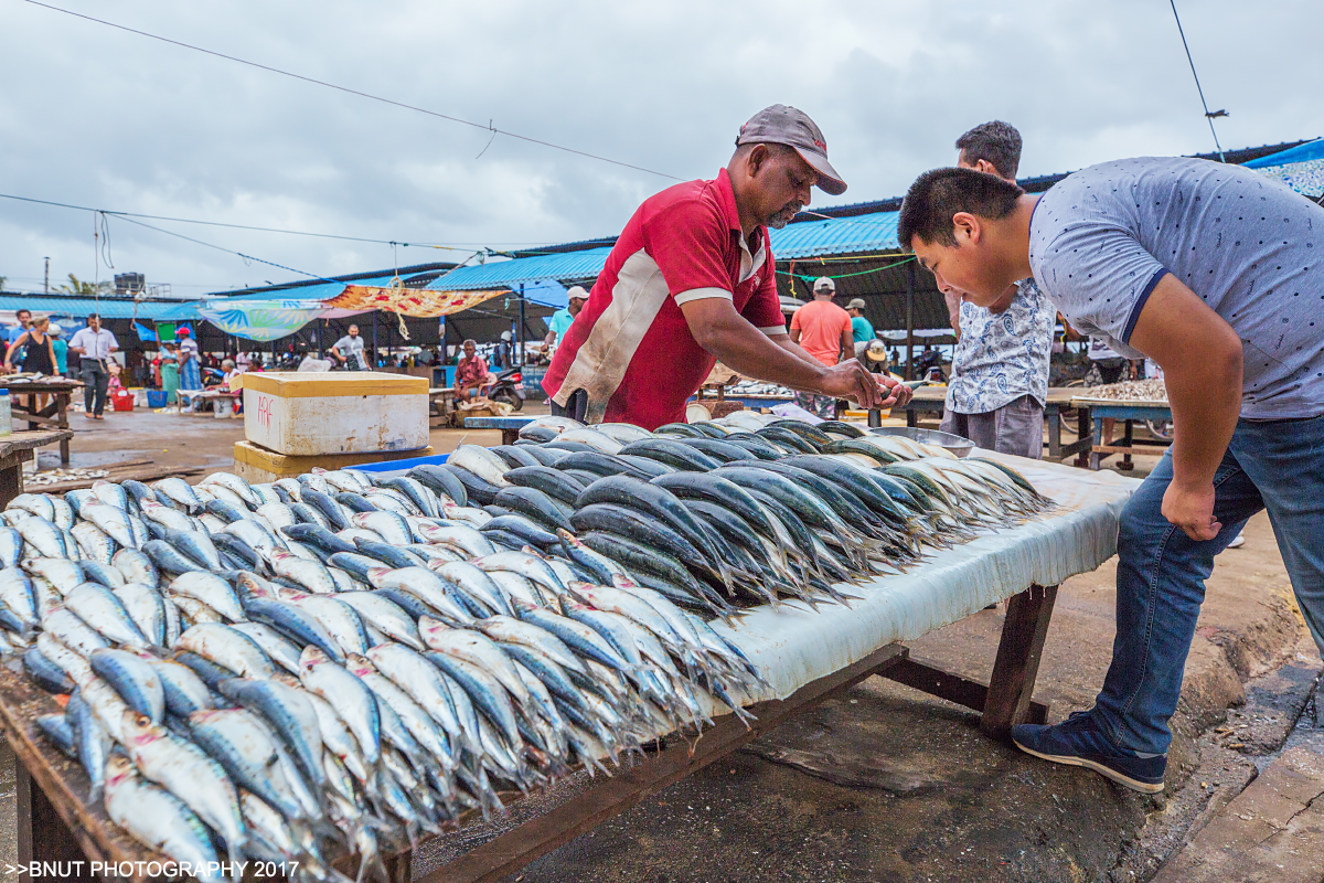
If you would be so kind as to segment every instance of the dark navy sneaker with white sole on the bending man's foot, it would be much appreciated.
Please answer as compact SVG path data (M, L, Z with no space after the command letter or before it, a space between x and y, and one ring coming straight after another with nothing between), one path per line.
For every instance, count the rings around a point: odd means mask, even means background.
M1143 794L1162 792L1166 755L1149 755L1117 748L1094 723L1087 711L1078 711L1061 724L1017 724L1012 741L1021 751L1071 767L1084 767L1119 785Z

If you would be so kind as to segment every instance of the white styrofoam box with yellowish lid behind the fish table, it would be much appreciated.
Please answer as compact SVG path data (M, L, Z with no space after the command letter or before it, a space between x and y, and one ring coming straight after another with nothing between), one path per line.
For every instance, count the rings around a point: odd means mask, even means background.
M244 375L244 434L311 457L428 445L428 381L365 371Z

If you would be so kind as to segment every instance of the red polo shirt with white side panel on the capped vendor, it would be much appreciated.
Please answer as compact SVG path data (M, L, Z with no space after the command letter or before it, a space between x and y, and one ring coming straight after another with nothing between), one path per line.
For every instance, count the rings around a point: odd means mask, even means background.
M682 303L727 298L764 334L786 332L768 230L757 237L751 254L726 169L645 200L556 349L543 389L560 405L587 391L594 424L651 430L683 421L686 400L716 359L690 334Z

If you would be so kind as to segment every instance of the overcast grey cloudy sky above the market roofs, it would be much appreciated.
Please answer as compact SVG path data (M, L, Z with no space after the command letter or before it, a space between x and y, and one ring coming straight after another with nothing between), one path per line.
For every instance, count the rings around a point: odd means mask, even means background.
M52 0L54 5L681 179L748 116L822 127L850 189L896 196L986 119L1023 176L1213 148L1166 0L591 3ZM1320 0L1178 1L1225 148L1324 135ZM0 0L0 193L232 224L454 245L400 265L610 236L673 183ZM479 154L482 154L479 156ZM387 245L156 222L314 274ZM0 200L0 275L41 290L140 271L176 294L301 277L87 212Z

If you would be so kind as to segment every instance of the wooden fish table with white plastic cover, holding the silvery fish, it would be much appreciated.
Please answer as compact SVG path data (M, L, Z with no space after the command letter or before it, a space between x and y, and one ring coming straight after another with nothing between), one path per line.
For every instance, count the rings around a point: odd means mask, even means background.
M715 725L704 729L702 739L691 743L659 737L643 760L613 777L598 778L553 810L470 849L420 880L499 880L874 674L981 711L981 729L993 737L1005 737L1014 723L1045 720L1047 706L1034 702L1031 694L1057 588L1113 555L1117 519L1139 481L1111 471L978 453L1018 469L1054 499L1055 508L1017 527L932 549L907 573L854 586L859 597L850 606L820 605L813 610L784 601L777 608L747 610L735 625L714 622L768 683L747 706L755 716L749 728L708 700L706 711ZM910 655L906 641L1002 598L1009 604L988 684ZM40 735L37 716L57 708L49 695L16 670L16 662L0 666L0 728L20 761L20 863L159 858L111 823L101 804L89 802L82 768ZM551 790L555 798L556 786ZM473 839L466 827L432 842L445 845L450 837L461 843ZM391 879L409 880L410 860L410 853L396 855L389 862Z

